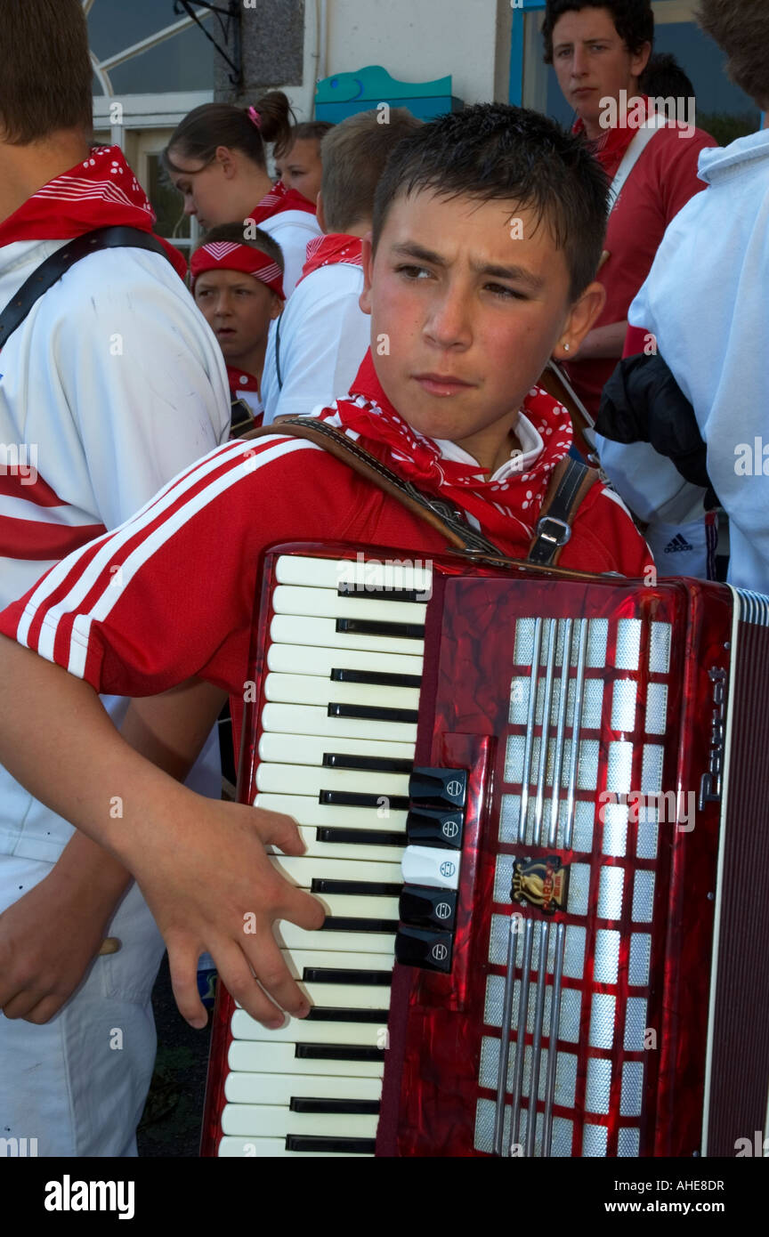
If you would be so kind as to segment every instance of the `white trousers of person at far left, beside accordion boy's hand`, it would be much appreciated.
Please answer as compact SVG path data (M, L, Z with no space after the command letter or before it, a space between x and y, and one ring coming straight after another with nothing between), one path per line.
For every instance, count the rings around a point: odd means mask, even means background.
M0 912L51 866L0 855ZM136 884L108 935L122 948L94 960L51 1022L36 1027L0 1013L0 1138L36 1138L38 1155L136 1155L155 1064L150 998L164 950Z

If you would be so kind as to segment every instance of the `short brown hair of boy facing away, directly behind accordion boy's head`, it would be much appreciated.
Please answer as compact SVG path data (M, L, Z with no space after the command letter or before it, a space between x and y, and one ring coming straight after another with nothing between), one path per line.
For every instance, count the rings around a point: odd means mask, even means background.
M334 125L320 145L326 231L346 233L371 219L388 156L403 137L422 127L408 108L391 108L386 124L380 111L357 111Z

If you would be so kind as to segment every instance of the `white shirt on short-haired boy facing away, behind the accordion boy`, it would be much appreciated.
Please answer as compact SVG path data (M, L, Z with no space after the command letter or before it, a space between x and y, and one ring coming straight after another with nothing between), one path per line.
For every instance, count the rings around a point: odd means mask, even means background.
M371 340L371 318L359 304L362 291L362 267L349 262L320 266L302 280L282 317L270 325L262 374L266 426L276 417L305 417L308 409L347 395Z

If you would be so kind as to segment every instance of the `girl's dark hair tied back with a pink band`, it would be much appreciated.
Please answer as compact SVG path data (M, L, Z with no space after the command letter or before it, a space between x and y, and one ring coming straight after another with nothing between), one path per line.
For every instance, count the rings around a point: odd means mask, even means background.
M265 142L286 142L291 136L293 111L282 90L268 90L256 100L253 108L261 125L253 124L247 108L234 108L230 103L204 103L193 108L181 120L161 158L167 172L181 172L171 157L174 151L182 158L210 163L218 146L242 151L257 167L267 167Z

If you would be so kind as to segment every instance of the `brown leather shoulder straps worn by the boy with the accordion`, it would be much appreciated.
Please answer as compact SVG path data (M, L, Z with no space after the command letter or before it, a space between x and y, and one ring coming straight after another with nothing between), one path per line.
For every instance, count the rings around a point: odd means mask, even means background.
M415 485L404 481L397 473L388 469L386 464L382 464L346 434L340 433L334 426L318 421L315 417L283 417L279 424L263 426L242 437L245 439L263 438L276 433L307 438L317 447L321 447L441 532L455 549L467 554L506 559L506 554L487 537L472 528L456 507L434 495L423 494ZM576 471L564 465L575 465ZM585 474L592 474L592 476L586 479ZM574 512L596 477L597 474L593 469L586 468L577 460L561 460L556 466L542 507L537 533L529 548L529 562L548 567L553 567L558 562L560 550L571 533L570 523ZM532 558L533 553L537 553L538 557Z

